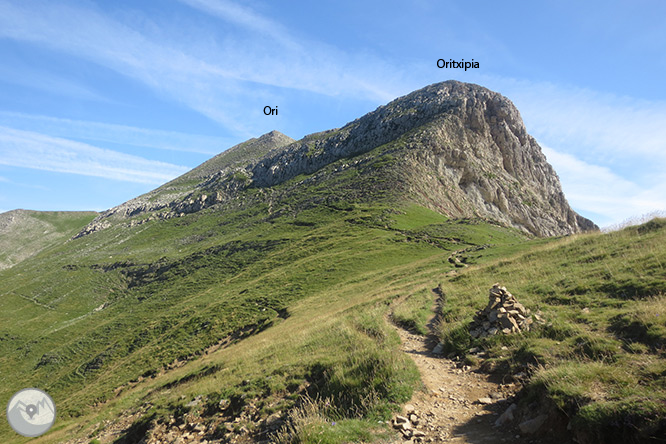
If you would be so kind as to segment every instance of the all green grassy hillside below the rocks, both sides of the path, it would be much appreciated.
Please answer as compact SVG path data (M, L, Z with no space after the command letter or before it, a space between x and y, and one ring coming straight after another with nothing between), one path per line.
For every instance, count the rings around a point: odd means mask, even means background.
M0 276L3 399L38 386L59 409L37 442L93 439L105 421L139 410L132 433L171 417L200 421L213 439L235 417L260 433L262 418L286 415L306 394L329 403L301 410L302 435L375 435L378 418L418 388L388 304L415 301L402 316L419 325L432 305L422 295L440 283L449 349L480 345L485 369L526 372L524 402L545 394L590 433L621 418L631 427L611 433L649 434L664 417L663 221L528 240L415 205L338 203L132 230L77 239ZM449 261L453 252L469 266ZM473 342L466 324L496 281L548 325ZM328 430L330 419L345 428ZM1 433L23 442L6 424Z

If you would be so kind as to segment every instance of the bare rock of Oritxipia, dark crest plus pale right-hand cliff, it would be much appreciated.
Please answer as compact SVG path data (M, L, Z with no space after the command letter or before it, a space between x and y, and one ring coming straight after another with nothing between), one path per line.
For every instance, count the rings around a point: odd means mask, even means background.
M597 229L569 207L516 107L455 81L398 98L248 170L257 186L270 187L383 145L399 159L403 192L449 216L489 218L538 236Z

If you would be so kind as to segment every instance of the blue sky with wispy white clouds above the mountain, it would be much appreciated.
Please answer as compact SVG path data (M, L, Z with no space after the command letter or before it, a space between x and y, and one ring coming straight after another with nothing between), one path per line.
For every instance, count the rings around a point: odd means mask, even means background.
M659 0L0 0L0 212L104 210L457 79L511 99L608 226L666 211L665 78Z

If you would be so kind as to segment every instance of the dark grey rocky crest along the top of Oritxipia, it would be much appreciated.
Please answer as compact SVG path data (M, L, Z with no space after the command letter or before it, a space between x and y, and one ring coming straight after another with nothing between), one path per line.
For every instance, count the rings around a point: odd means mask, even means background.
M442 116L456 117L471 131L502 122L521 143L527 140L518 110L498 93L478 85L447 81L400 97L387 105L312 141L306 137L252 167L254 182L272 186L299 174L310 174L342 157L350 157L393 141Z

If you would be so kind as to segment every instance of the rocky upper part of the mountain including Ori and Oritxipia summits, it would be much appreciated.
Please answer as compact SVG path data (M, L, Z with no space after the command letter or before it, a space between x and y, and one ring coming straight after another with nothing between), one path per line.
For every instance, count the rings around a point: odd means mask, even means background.
M301 176L308 177L290 183ZM447 81L340 129L299 141L277 131L251 139L103 213L79 236L114 219L140 216L134 221L139 223L248 202L248 190L271 190L250 193L249 201L263 198L273 209L300 185L318 189L299 203L305 206L406 199L449 217L491 220L536 236L597 229L569 207L555 171L511 101L478 85Z

